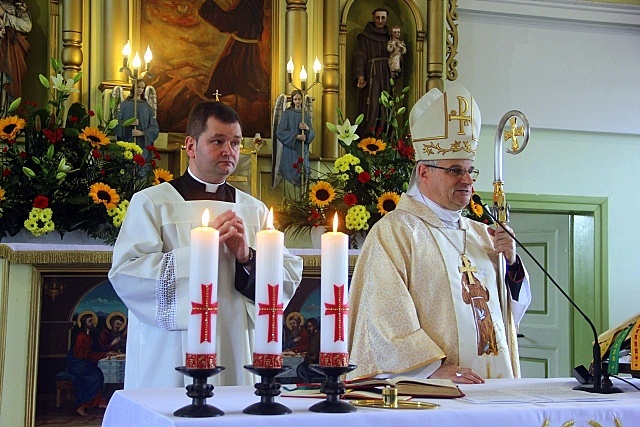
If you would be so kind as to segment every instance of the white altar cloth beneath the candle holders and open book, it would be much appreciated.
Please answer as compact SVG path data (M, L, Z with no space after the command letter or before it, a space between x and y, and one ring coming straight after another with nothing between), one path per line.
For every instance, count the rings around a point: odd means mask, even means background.
M632 380L640 385L638 380ZM103 427L300 425L326 427L345 423L353 426L640 426L640 391L614 380L625 393L594 395L572 390L577 381L568 378L489 380L486 384L463 385L462 399L427 399L441 405L431 410L387 410L358 407L350 414L318 414L308 408L317 399L278 396L289 415L246 415L242 410L258 402L253 387L216 387L207 403L223 410L217 418L179 418L173 412L191 403L186 390L120 390L107 407ZM284 424L283 424L284 423Z

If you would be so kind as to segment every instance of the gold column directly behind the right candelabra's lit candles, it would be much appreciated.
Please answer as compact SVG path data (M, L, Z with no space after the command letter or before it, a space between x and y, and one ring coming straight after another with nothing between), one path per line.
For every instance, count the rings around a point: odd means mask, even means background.
M293 59L296 68L292 79L293 83L300 87L300 70L303 65L307 70L307 74L313 76L313 71L309 67L310 64L307 64L307 0L287 0L285 26L285 60ZM289 88L287 87L285 92L288 91Z

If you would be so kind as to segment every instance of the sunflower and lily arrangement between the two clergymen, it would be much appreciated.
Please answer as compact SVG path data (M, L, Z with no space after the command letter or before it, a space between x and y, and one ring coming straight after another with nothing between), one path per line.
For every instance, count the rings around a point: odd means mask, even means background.
M408 120L399 123L409 87L396 94L392 79L391 88L391 93L385 91L380 97L384 127L371 129L365 138L355 134L362 115L352 125L338 109L338 123L326 124L338 135L345 154L328 171L313 171L305 186L284 198L277 215L280 230L296 235L330 226L337 212L340 230L354 236L396 208L409 186L415 161ZM304 170L302 159L293 167Z

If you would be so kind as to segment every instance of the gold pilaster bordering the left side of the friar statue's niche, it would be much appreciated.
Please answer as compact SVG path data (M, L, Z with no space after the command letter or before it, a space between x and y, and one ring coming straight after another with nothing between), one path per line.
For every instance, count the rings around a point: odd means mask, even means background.
M337 0L323 3L323 70L322 70L322 150L321 157L335 159L339 154L338 138L324 123L337 123L337 108L340 102L338 95L340 83L339 69L339 36L340 6Z

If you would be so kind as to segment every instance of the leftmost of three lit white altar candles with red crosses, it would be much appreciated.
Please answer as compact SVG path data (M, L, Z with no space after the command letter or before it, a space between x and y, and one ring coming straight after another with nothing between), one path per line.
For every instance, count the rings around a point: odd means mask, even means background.
M218 249L220 233L209 224L209 209L202 227L191 230L189 258L189 323L186 367L216 367L216 316L218 314Z

